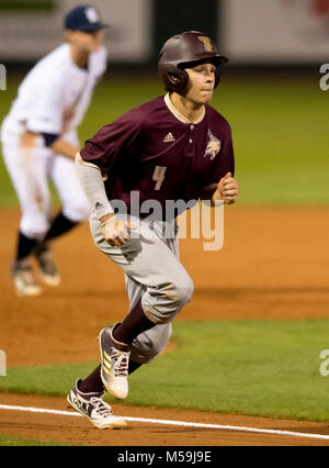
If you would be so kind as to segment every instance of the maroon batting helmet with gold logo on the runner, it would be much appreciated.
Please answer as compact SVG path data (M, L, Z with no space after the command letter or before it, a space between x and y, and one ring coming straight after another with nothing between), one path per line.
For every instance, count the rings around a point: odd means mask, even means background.
M220 79L220 66L228 60L218 54L213 41L200 31L186 31L170 37L164 43L158 62L159 74L166 90L183 92L189 81L189 75L184 68L207 60L216 66L216 88Z

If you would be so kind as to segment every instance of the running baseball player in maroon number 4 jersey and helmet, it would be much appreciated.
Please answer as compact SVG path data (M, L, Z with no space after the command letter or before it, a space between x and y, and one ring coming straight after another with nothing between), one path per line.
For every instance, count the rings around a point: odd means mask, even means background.
M103 126L77 155L94 243L124 271L129 297L123 321L100 333L100 366L68 395L97 427L125 426L104 390L127 397L128 375L164 348L192 296L168 201L237 199L230 126L208 105L226 62L201 32L171 37L159 57L168 93Z

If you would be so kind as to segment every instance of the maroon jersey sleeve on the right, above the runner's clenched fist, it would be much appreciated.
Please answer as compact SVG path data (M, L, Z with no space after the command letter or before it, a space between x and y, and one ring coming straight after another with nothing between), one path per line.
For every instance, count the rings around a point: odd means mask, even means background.
M225 129L225 134L220 142L220 151L215 157L213 170L204 180L203 187L218 183L227 172L231 172L232 176L235 175L235 154L231 130L227 122L226 124L227 127Z

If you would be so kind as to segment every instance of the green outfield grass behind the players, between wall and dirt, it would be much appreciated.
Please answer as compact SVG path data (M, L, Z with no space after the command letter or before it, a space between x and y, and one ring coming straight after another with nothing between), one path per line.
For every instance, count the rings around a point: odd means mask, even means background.
M0 93L0 122L20 79L9 70L9 89ZM110 73L98 86L79 129L81 144L103 124L160 94L156 75ZM328 99L316 74L286 79L264 74L224 77L212 104L232 127L240 203L329 203ZM15 203L1 163L0 204Z

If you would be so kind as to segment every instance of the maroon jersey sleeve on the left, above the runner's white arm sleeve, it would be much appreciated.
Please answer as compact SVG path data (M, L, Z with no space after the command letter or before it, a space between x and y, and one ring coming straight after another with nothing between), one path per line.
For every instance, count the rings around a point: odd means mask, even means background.
M113 123L103 126L92 138L87 140L80 155L83 161L97 165L109 174L115 160L124 154L138 136L143 118L132 110Z

